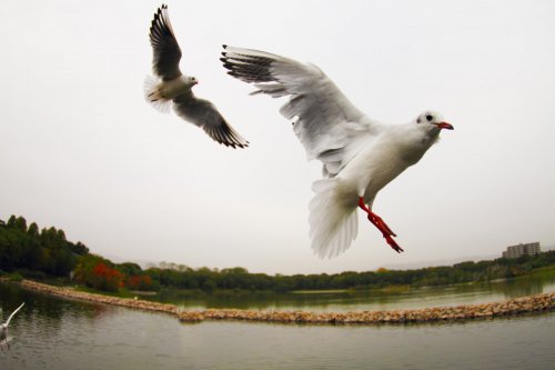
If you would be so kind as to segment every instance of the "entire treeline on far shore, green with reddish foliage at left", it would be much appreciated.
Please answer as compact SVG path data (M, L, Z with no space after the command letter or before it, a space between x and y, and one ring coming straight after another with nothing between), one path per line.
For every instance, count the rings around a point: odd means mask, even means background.
M518 259L462 262L454 266L416 270L376 271L294 276L250 273L246 269L192 269L184 264L162 262L142 269L133 262L113 263L89 253L82 243L65 240L62 230L42 229L33 222L27 227L22 217L0 221L0 270L47 273L73 278L89 287L117 291L158 290L160 288L214 290L251 290L286 292L321 289L374 289L387 286L444 286L523 276L533 269L555 264L555 251Z

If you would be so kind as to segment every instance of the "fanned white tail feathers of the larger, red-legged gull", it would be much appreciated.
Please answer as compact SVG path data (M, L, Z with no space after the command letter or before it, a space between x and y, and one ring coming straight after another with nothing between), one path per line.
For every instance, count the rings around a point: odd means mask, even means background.
M320 258L344 252L359 232L356 206L343 201L341 178L314 181L310 202L312 250Z

